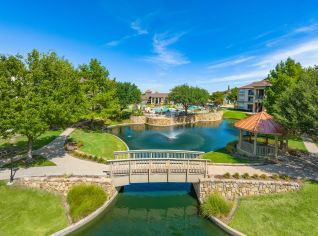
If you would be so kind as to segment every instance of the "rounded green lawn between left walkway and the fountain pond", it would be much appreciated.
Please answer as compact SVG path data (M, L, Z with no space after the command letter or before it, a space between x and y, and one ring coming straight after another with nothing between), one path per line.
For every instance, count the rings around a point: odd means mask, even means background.
M76 129L70 136L76 142L82 142L82 152L104 159L113 159L114 151L127 150L123 141L112 134Z

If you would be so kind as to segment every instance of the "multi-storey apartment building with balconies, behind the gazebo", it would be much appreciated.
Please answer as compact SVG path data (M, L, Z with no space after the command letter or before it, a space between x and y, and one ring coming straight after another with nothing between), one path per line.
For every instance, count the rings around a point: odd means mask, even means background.
M265 89L269 86L271 86L271 84L268 81L261 80L239 88L237 108L250 112L263 111Z

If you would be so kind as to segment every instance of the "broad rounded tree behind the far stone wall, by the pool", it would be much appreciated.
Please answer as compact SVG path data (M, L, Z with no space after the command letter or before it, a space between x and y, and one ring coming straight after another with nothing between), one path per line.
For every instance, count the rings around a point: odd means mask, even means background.
M179 85L171 89L168 100L181 103L185 114L188 114L190 105L205 105L208 101L209 93L205 89L190 87L187 84Z

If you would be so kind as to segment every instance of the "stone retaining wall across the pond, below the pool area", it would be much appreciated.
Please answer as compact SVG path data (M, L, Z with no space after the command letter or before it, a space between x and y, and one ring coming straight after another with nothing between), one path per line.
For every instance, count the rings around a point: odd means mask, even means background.
M188 116L177 116L177 117L164 117L164 116L154 116L154 117L144 117L144 123L153 126L171 126L178 124L193 124L196 122L211 122L222 120L223 111L209 112L209 113L196 113L190 114ZM133 118L134 119L134 118ZM136 120L131 120L134 123ZM139 118L139 123L142 118Z

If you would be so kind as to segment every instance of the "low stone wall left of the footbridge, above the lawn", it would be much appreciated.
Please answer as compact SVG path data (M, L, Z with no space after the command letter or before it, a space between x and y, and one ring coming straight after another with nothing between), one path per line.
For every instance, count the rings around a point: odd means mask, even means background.
M40 188L49 192L58 192L67 195L71 187L79 184L96 184L101 186L109 197L116 192L111 179L99 176L45 176L24 177L16 180L17 184L31 188Z

